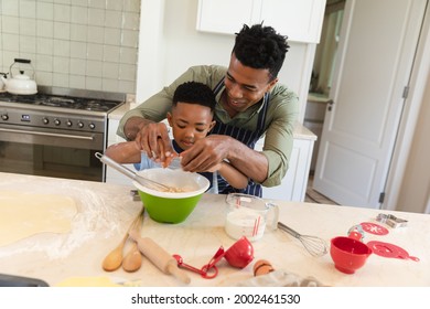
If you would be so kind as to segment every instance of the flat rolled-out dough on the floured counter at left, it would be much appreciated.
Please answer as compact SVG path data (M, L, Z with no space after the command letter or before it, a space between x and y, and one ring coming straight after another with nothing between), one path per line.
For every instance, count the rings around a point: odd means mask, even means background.
M39 233L67 233L76 213L69 196L0 191L0 246Z

